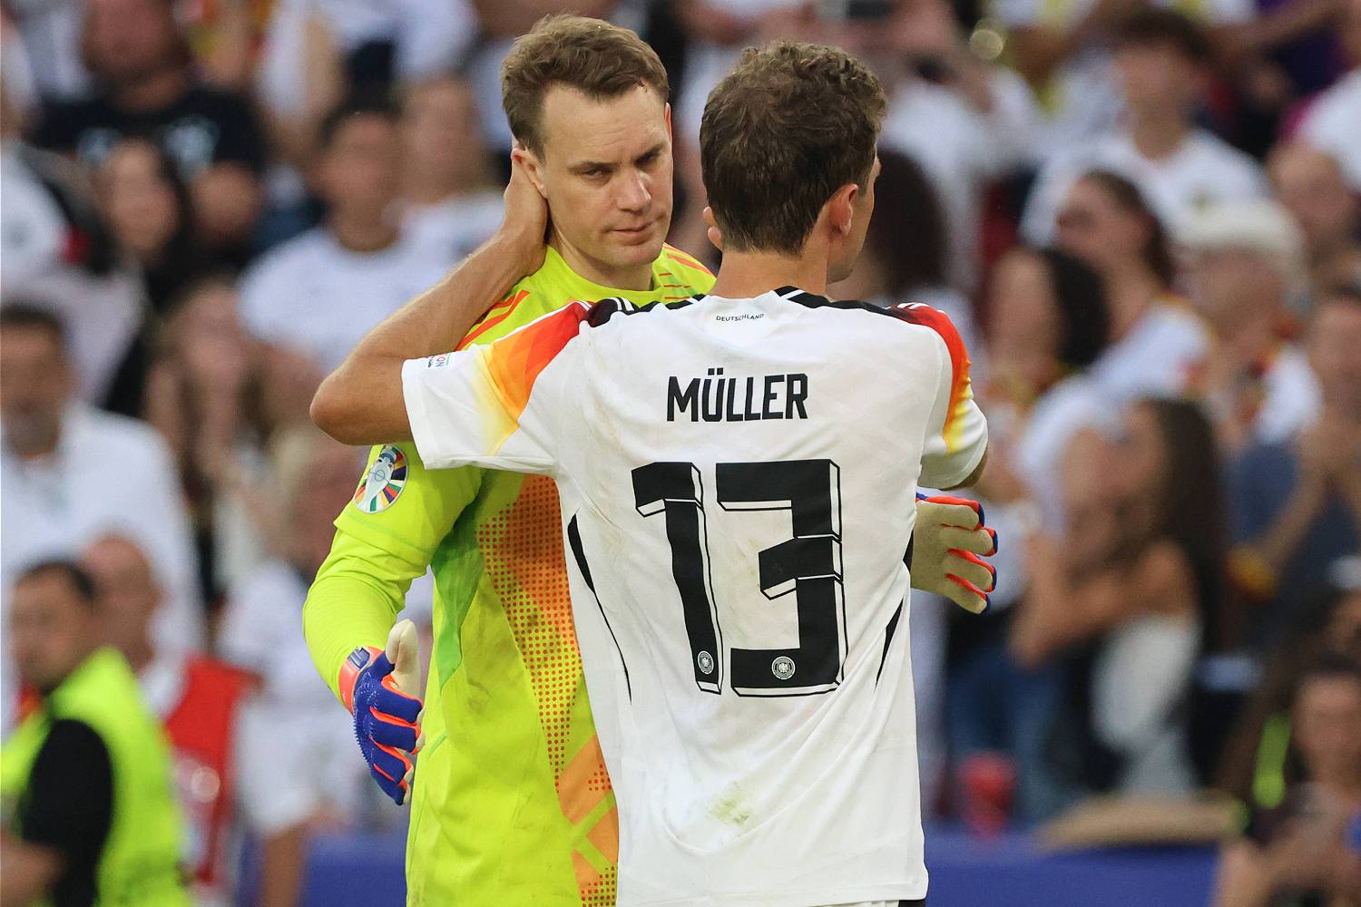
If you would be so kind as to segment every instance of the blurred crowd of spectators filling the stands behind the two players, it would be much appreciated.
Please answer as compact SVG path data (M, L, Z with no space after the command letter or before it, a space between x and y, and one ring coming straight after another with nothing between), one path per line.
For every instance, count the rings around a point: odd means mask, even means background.
M743 46L889 91L832 292L960 326L1003 538L987 615L915 600L928 812L1217 789L1225 907L1361 889L1361 0L4 0L5 612L37 562L90 572L201 902L241 840L290 904L312 831L397 820L302 640L363 462L308 404L497 228L498 65L569 10L666 63L706 261L700 114Z

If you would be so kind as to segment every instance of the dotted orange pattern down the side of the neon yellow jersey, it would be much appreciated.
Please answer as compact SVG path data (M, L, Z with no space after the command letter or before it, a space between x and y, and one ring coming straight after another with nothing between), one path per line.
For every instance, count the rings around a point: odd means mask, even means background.
M592 729L584 744L568 752L574 721L589 723L589 711L574 711L585 699L581 650L572 623L568 566L562 553L558 491L546 476L525 476L514 503L478 528L478 545L487 577L505 606L539 706L558 801L568 817L610 866L600 873L580 853L572 859L584 907L610 907L615 900L619 855L618 810L611 808L591 827L584 823L610 795L610 775ZM580 717L578 717L580 715Z

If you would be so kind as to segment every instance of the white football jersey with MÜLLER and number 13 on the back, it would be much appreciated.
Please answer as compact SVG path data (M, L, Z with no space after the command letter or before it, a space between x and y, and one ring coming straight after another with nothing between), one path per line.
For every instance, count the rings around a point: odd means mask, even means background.
M925 895L905 552L987 446L943 314L573 303L403 389L426 466L558 483L622 907Z

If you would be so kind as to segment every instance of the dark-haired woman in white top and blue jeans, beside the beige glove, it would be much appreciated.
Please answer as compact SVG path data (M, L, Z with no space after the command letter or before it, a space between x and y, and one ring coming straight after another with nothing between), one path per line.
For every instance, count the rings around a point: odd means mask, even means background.
M968 787L974 757L1000 751L1017 766L1017 805L1043 819L1067 802L1044 763L1059 704L1059 673L1023 669L1007 653L1013 605L1026 586L1019 540L1034 525L1062 525L1062 462L1074 438L1100 426L1106 408L1085 375L1106 343L1101 277L1056 249L1017 247L998 262L988 310L988 466L974 491L1006 538L994 558L1006 583L988 613L950 632L950 741Z

